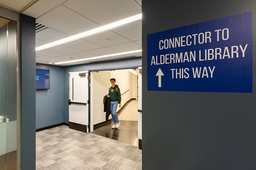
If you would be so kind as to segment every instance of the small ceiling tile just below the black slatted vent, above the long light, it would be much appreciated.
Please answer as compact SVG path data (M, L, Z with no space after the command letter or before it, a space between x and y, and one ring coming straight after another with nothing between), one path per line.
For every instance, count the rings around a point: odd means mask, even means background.
M63 38L67 38L67 37L70 37L70 35L68 35L66 33L62 33L57 30L54 30L52 28L46 28L46 29L36 33L36 39L44 40L44 41L48 41L48 42L61 40ZM36 47L38 47L38 46L36 46Z

